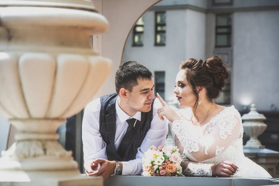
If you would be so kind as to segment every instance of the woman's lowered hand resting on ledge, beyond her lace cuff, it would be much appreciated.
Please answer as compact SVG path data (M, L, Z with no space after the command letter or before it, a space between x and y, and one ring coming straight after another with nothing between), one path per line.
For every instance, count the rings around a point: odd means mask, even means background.
M228 162L228 161L220 162L218 165L213 165L211 167L213 177L215 176L230 177L231 175L234 175L234 173L237 170L239 171L238 167L232 162Z

